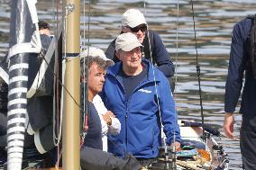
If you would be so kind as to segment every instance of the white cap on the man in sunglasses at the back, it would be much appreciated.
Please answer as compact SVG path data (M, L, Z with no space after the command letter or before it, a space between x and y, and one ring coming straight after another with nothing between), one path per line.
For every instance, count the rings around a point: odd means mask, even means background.
M140 24L147 24L143 13L136 9L129 9L125 13L123 13L122 24L128 25L131 28L134 28Z

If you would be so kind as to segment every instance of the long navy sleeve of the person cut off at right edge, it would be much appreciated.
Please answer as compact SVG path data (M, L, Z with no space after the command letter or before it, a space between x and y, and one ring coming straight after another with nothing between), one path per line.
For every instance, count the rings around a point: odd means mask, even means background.
M224 112L235 111L236 104L241 94L243 72L246 65L246 52L244 47L250 28L251 26L249 27L244 20L236 23L233 27L228 75L224 94Z

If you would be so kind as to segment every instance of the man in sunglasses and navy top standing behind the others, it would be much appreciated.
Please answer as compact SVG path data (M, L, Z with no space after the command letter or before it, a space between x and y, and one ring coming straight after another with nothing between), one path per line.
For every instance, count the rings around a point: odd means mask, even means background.
M155 31L148 30L148 24L144 15L137 9L129 9L123 13L121 33L132 32L143 45L143 57L149 59L153 65L157 65L166 76L174 75L174 67L169 58L169 53L163 45L160 36ZM119 61L115 56L115 40L111 42L105 51L107 58L114 62ZM172 88L173 85L172 85Z

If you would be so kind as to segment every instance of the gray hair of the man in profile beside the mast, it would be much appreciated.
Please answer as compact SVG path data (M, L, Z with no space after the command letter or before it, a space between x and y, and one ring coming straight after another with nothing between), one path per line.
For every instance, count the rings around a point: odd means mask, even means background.
M89 69L93 63L96 63L96 65L98 67L101 67L103 69L107 68L107 63L105 61L105 59L100 58L100 57L85 57L85 58L81 58L80 60L80 74L81 76L87 76L87 72L89 72L90 70L87 71L87 69ZM85 65L85 66L84 66Z

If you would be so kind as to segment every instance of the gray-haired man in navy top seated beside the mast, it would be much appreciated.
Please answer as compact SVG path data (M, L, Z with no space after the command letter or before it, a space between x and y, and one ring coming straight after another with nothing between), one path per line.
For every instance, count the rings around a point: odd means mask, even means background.
M84 143L81 146L81 167L82 169L87 170L138 170L141 168L141 165L132 156L121 159L102 150L101 122L96 106L92 102L96 94L101 92L105 83L106 67L113 65L114 63L111 62L111 60L106 59L105 56L101 56L100 49L89 50L85 51L87 54L85 56L87 57L82 58L80 62L81 72L85 73L81 74L81 80L87 82L88 86L88 130ZM84 54L81 55L84 56ZM87 71L85 69L87 69Z

